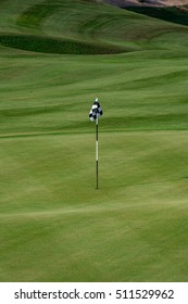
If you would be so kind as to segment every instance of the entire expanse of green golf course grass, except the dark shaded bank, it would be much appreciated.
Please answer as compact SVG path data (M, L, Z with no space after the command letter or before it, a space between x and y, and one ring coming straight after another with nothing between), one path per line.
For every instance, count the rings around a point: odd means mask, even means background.
M1 47L0 281L187 281L188 29L80 1L33 20L37 3L1 1L1 34L135 51Z

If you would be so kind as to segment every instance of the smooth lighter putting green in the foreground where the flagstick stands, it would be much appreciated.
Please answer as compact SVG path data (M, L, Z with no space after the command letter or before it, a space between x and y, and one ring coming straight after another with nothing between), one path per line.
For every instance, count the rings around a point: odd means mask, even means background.
M186 281L187 141L102 134L96 190L91 135L1 139L1 281Z

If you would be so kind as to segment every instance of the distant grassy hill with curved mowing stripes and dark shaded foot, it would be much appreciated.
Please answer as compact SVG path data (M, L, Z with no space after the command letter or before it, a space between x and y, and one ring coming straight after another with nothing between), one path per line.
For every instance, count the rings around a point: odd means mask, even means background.
M9 13L5 3L2 2L0 13L0 43L4 47L49 53L100 54L161 48L159 37L171 36L171 33L178 37L180 34L183 46L187 40L187 28L104 3L25 1L22 5L15 3Z

